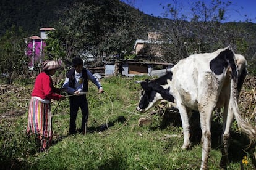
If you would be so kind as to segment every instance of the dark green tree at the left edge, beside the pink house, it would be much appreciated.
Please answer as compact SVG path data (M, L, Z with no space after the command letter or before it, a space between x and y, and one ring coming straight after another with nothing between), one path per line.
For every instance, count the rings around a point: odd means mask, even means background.
M12 26L0 39L0 73L1 76L7 75L9 84L17 76L28 74L24 37L21 28Z

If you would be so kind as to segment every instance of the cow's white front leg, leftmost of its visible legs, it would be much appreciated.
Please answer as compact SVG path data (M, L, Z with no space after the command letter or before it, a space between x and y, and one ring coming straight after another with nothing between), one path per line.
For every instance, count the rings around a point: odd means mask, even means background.
M182 145L182 149L189 148L190 145L190 133L189 133L189 115L187 108L184 107L184 105L179 104L179 114L181 115L181 122L182 122L182 129L183 129L183 135L184 135L184 142Z

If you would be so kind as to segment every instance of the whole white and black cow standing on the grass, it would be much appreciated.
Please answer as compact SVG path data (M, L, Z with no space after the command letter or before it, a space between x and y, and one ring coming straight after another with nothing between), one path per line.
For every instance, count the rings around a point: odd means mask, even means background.
M139 82L142 94L137 110L147 111L163 99L176 103L184 132L183 149L190 145L189 118L192 110L198 110L202 130L201 169L207 169L213 110L224 107L221 163L226 166L229 131L234 117L249 139L256 138L256 128L242 119L237 105L238 94L246 76L246 65L244 56L234 54L229 47L212 53L190 55L180 60L166 75L152 81Z

